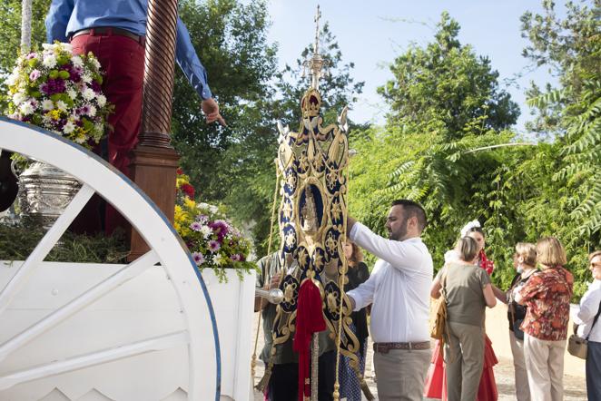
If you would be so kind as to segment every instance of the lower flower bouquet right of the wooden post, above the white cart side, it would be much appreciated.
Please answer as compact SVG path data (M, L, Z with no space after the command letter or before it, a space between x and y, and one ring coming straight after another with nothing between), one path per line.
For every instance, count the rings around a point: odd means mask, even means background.
M225 269L236 269L242 279L242 271L255 268L248 261L251 241L232 226L220 208L193 200L194 188L190 178L178 170L176 181L176 204L173 226L199 269L211 268L220 282L226 281Z

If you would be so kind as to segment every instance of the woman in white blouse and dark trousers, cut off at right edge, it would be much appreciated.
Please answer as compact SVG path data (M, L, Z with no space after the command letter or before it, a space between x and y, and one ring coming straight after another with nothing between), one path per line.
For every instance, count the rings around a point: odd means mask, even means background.
M588 255L588 262L595 280L580 299L580 308L573 318L578 325L578 336L588 337L586 394L589 401L601 401L601 322L594 324L601 308L601 250Z

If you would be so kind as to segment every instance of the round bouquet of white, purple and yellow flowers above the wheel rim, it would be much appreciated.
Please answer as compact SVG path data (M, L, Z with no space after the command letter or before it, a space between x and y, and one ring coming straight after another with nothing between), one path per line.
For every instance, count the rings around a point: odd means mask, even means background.
M70 44L43 44L18 57L6 79L8 117L56 132L87 148L100 142L113 106L101 93L94 54L74 55Z

